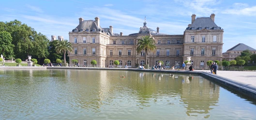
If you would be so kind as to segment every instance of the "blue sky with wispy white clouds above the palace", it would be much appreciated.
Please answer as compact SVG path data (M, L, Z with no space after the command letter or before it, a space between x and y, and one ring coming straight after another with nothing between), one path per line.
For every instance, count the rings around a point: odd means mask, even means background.
M0 21L17 19L47 35L62 35L74 29L78 18L100 18L101 27L113 26L115 33L136 33L147 26L169 35L182 35L191 23L191 15L209 17L215 13L215 23L224 29L223 52L238 43L256 49L256 2L254 0L141 0L141 1L1 1Z

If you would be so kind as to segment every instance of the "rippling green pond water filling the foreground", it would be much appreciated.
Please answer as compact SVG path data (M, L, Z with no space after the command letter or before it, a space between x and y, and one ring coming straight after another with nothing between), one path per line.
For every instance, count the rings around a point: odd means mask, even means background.
M256 119L254 101L196 75L45 69L0 78L0 119Z

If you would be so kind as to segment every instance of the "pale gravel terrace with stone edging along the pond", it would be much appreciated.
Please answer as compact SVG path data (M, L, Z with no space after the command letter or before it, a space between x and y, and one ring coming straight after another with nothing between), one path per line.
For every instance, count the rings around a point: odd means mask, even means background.
M88 70L130 70L145 72L165 72L179 74L197 74L210 80L223 84L244 95L256 99L256 72L254 71L217 71L217 75L209 73L210 70L180 71L180 70L151 70L136 68L104 68L104 67L0 67L0 69L88 69Z

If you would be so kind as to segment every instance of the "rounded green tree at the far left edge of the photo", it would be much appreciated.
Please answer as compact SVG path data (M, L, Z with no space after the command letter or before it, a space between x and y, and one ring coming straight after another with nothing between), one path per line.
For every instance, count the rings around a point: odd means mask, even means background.
M14 45L12 44L12 36L7 31L0 31L0 51L3 56L9 58L14 56Z

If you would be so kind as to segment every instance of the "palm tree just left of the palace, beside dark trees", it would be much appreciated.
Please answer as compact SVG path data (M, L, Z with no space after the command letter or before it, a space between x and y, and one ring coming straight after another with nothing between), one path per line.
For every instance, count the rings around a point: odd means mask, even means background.
M66 65L66 52L69 53L73 53L73 47L72 44L70 42L68 42L68 40L62 40L62 41L58 41L57 45L56 45L56 52L57 53L63 53L63 57L64 57L64 64Z

